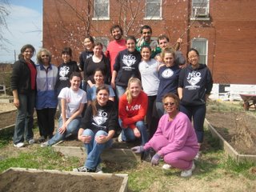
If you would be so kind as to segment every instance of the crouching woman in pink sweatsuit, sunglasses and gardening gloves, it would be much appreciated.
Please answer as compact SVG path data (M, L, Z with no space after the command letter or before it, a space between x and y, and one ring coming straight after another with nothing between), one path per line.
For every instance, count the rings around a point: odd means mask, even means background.
M134 146L135 153L153 148L156 152L151 159L152 166L158 165L160 158L167 163L163 169L175 167L182 170L182 177L190 177L194 170L194 157L199 146L194 128L186 114L178 111L179 99L175 94L165 94L162 98L166 114L160 118L158 130L144 146Z

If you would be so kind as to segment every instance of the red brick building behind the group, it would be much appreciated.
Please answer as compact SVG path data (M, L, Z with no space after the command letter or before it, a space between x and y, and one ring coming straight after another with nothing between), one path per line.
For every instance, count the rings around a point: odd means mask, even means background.
M167 34L174 44L181 37L184 54L196 47L215 83L256 84L255 8L254 0L43 0L42 45L55 64L64 46L78 61L86 34L107 44L113 24L136 37L147 24L154 38Z

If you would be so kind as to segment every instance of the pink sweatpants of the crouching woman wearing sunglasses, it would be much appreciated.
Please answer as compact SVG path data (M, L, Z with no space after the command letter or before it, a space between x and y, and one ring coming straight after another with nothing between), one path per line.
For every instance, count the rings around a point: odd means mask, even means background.
M152 140L153 139L153 140ZM162 147L167 146L169 141L162 135L151 138L150 144L152 148L158 152ZM164 156L164 161L170 166L181 170L189 170L192 167L194 157L198 154L198 149L184 146L181 150L171 152Z

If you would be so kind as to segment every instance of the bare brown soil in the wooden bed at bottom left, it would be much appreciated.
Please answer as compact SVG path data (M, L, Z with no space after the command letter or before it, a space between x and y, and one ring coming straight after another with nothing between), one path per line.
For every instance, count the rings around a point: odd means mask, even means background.
M58 175L58 176L57 176ZM8 170L0 175L0 192L34 191L119 191L122 177L94 178L90 175L30 173Z

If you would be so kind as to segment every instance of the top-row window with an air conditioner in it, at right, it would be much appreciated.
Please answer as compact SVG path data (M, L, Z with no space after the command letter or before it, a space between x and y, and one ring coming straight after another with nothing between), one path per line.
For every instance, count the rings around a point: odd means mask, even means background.
M192 15L190 19L209 20L209 0L192 0Z

